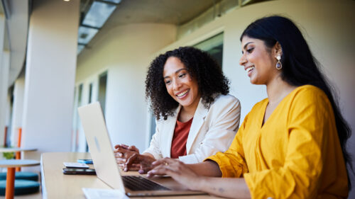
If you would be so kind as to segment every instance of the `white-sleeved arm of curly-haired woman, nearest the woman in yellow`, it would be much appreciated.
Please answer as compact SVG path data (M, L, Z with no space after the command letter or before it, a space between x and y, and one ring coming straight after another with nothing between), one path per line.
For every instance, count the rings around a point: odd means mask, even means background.
M200 145L192 154L179 157L180 161L195 164L228 149L238 130L241 106L238 99L232 96L223 97L217 99L209 109L209 129L207 132L200 132L204 134L202 142L194 143Z

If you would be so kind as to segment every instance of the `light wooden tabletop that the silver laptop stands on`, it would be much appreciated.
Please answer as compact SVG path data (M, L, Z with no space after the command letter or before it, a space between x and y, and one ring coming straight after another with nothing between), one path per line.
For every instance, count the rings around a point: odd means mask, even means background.
M102 182L97 176L86 175L64 175L62 168L63 162L76 162L77 159L91 159L89 153L44 153L41 156L41 174L42 174L42 196L43 198L80 198L84 199L82 188L104 188L111 189L107 184ZM94 168L89 164L90 168ZM122 175L137 175L138 172L122 172ZM170 178L172 183L176 183ZM164 180L166 181L166 179ZM158 181L157 181L158 182ZM134 197L139 198L139 197ZM146 198L217 198L211 195L190 195L190 196L168 196L168 197L142 197Z

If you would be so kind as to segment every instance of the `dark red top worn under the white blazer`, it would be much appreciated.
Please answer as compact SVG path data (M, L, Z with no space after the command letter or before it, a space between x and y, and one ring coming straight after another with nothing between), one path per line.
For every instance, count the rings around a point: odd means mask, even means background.
M192 124L192 119L188 120L186 123L182 123L176 120L175 130L173 140L171 141L171 158L179 158L186 155L186 142L189 136L190 127Z

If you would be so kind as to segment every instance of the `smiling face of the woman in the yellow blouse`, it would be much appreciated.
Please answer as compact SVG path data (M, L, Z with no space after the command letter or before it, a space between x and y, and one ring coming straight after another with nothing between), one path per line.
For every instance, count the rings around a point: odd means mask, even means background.
M280 75L276 69L277 49L268 49L263 40L244 36L241 40L242 56L239 64L244 66L251 84L268 84ZM274 55L275 54L275 55Z

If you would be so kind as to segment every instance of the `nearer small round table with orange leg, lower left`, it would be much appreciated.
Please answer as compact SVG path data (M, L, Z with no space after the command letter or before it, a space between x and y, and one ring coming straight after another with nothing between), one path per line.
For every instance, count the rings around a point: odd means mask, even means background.
M40 162L31 159L4 159L0 160L0 167L7 167L5 198L12 199L15 186L15 168L22 166L36 166Z

